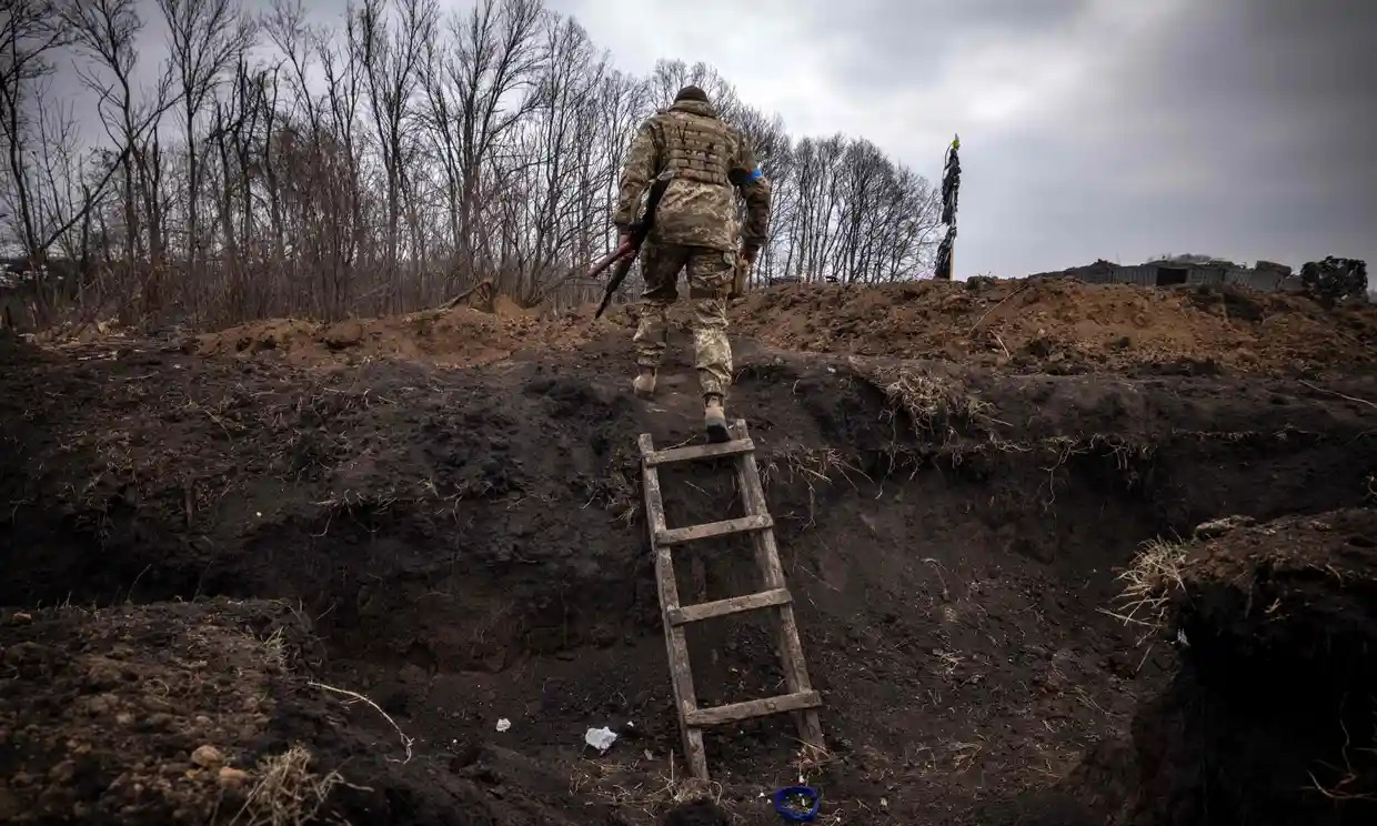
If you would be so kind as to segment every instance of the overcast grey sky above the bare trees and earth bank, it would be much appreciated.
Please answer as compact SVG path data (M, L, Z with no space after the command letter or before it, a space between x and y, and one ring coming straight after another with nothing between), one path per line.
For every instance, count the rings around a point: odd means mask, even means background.
M1195 252L1377 267L1373 0L549 0L936 180L958 277Z

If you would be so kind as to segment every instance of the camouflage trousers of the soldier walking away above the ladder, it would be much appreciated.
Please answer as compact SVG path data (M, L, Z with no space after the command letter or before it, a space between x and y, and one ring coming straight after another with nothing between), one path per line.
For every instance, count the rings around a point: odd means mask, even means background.
M646 292L640 295L640 324L632 343L636 366L655 369L669 341L669 306L679 297L679 271L688 271L693 306L694 368L702 394L726 398L731 384L731 343L727 341L727 293L735 275L737 253L706 246L650 244L640 252Z

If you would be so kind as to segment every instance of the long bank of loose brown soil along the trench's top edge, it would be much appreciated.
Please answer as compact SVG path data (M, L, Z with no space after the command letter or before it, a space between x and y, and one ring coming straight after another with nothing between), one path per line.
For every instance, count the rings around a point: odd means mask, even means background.
M202 335L201 355L271 354L296 365L370 358L448 366L570 350L617 335L635 304L537 318L503 296L471 307L332 325L263 321ZM492 311L487 311L492 310ZM687 329L687 301L672 319ZM1377 308L1326 310L1243 288L1144 289L1066 279L920 281L879 288L786 285L737 301L733 333L786 351L936 358L1002 372L1304 373L1377 363Z

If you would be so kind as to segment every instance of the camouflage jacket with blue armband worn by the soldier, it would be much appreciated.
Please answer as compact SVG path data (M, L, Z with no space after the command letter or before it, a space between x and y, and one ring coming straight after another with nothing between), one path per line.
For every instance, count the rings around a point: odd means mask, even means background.
M756 167L746 138L701 100L680 100L640 124L621 172L613 223L625 233L650 182L672 168L650 240L711 249L755 253L766 242L770 222L770 180ZM746 201L745 226L738 226L733 187Z

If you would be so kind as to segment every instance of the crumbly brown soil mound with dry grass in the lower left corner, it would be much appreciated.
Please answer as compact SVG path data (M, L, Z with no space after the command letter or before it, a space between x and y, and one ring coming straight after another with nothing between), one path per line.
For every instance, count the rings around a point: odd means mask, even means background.
M383 709L314 679L322 659L281 602L7 611L0 820L606 822L511 752L416 754ZM350 728L369 714L380 734Z

